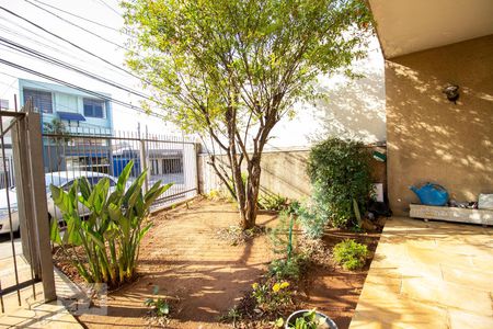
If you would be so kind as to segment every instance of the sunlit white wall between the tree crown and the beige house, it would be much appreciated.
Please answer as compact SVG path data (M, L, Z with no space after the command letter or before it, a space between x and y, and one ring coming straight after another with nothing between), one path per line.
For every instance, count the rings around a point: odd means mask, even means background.
M320 77L319 89L326 100L297 104L295 118L283 118L274 127L268 147L306 148L331 135L385 141L385 66L377 37L370 42L368 57L354 68L365 78Z

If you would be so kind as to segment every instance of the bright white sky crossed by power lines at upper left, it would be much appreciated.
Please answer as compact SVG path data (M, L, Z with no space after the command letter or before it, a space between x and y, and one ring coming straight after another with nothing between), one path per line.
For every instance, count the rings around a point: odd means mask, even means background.
M49 10L69 22L62 21L55 15L36 8L32 3ZM66 39L69 39L115 66L125 68L125 50L122 47L125 46L127 36L118 32L124 26L124 19L122 18L123 11L118 7L117 0L0 0L0 5ZM60 10L92 20L111 29L78 19L73 15L64 13ZM83 30L73 26L70 23L80 25ZM106 38L110 42L103 41L91 33ZM73 66L83 68L90 72L103 76L106 79L117 81L118 83L141 93L149 94L148 91L141 89L137 78L50 36L42 30L30 25L30 23L22 21L1 9L0 36L67 61ZM118 45L122 47L118 47ZM119 90L77 72L71 72L67 69L49 65L41 59L34 59L28 55L20 54L1 44L0 58L89 90L110 93L112 98L122 100L126 103L139 105L139 100L141 100L141 98L127 91ZM16 78L51 82L22 70L11 68L4 64L0 64L0 99L9 100L11 107L13 107L13 94L19 94ZM147 126L149 133L163 135L180 134L180 131L170 123L165 123L157 117L147 116L115 103L113 103L113 121L114 128L117 131L136 132L140 124L141 129L145 131Z

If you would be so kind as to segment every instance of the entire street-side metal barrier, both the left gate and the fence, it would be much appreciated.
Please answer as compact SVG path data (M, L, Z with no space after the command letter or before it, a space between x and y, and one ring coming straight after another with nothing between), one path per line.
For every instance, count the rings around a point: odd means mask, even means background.
M145 189L157 181L173 183L151 211L199 193L197 147L182 136L115 133L73 126L43 129L43 113L31 102L23 110L0 109L0 302L23 294L36 297L42 282L45 300L56 299L49 241L49 183L68 185L80 177L114 181L133 160L130 181L148 170ZM95 181L94 181L95 182ZM62 223L60 223L61 225ZM18 232L19 231L19 232ZM27 292L28 291L28 292ZM16 295L16 296L15 296ZM11 300L11 299L9 299Z

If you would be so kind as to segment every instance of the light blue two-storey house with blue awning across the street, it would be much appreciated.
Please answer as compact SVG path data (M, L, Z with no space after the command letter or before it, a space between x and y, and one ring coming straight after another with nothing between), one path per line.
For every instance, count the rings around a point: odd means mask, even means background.
M19 90L21 104L32 100L34 110L41 113L45 133L56 134L44 138L46 171L93 170L111 173L110 141L82 137L112 134L110 94L96 92L101 97L95 97L59 84L24 79L19 79ZM54 120L64 123L65 128L55 132L47 128Z

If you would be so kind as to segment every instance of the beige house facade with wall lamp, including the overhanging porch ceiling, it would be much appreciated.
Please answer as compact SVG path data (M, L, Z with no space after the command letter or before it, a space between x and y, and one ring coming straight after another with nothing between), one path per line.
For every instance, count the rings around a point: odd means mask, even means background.
M408 216L419 203L409 186L425 182L457 202L493 193L493 2L368 2L386 59L393 213Z

